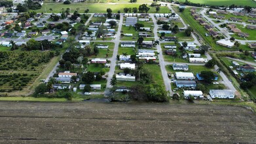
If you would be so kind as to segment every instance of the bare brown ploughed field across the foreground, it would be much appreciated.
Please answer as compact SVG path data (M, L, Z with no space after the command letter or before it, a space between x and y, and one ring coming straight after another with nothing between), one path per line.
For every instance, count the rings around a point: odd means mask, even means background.
M0 101L0 143L256 143L242 107Z

